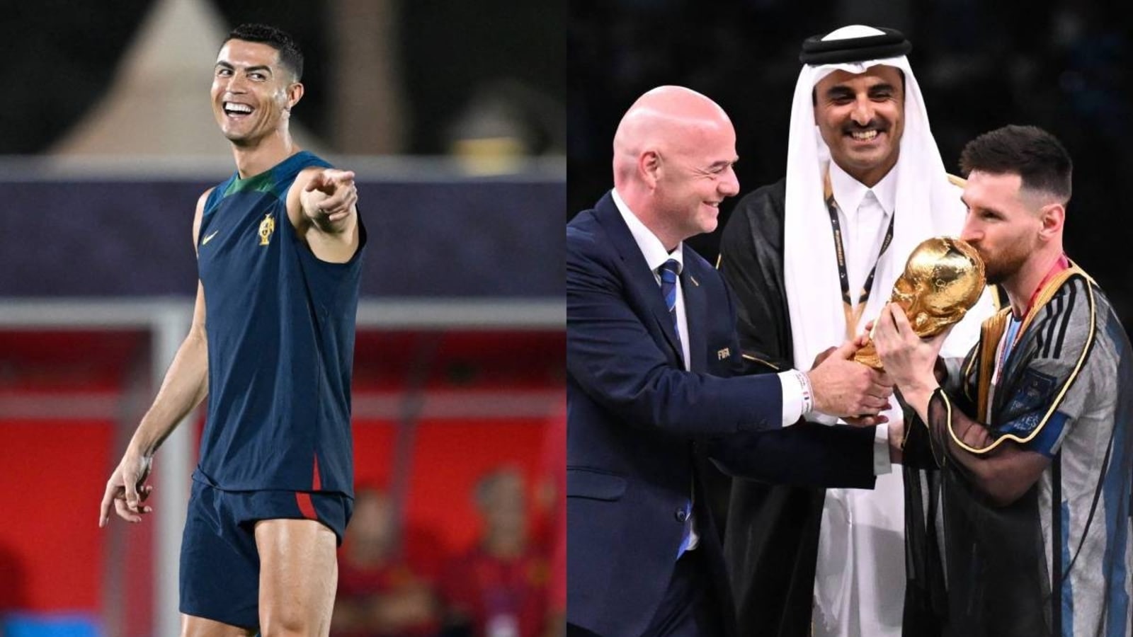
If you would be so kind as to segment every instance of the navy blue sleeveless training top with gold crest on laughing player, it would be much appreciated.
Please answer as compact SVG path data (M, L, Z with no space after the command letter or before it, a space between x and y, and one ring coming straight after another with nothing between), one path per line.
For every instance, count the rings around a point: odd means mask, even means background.
M348 263L316 257L287 193L312 153L208 195L197 235L205 290L208 414L193 477L229 491L353 496L350 373L366 232Z

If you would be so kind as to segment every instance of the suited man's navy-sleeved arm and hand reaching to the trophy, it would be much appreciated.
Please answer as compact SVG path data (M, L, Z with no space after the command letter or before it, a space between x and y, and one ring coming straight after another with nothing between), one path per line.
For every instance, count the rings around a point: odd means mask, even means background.
M600 245L582 230L566 230L566 368L582 391L628 423L681 435L781 428L781 380L672 366L631 307L633 292L617 272L619 257ZM889 390L876 382L877 374L849 360L852 348L845 345L811 376L816 408L846 416L876 414L888 404Z

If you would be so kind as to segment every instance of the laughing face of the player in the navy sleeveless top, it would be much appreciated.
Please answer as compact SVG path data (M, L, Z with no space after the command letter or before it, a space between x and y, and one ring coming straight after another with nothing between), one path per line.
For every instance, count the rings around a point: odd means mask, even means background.
M303 85L269 44L229 40L213 68L212 108L221 133L239 146L254 146L286 129Z

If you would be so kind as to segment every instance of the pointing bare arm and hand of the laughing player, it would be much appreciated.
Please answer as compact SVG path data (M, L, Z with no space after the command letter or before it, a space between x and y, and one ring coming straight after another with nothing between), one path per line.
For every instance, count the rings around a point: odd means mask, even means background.
M307 169L288 193L288 218L310 252L331 263L350 261L358 249L358 188L355 173Z

